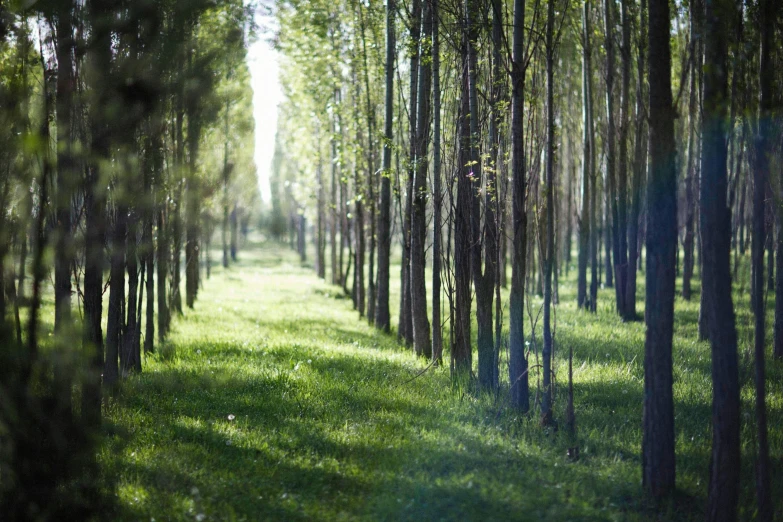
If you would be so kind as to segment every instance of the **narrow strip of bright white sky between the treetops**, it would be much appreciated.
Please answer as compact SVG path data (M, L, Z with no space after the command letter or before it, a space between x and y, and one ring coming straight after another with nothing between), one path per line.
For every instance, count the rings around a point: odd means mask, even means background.
M283 95L278 76L277 52L269 40L270 17L256 14L259 38L248 50L248 66L253 85L253 117L256 121L255 161L261 198L270 201L269 174L275 149L277 106Z

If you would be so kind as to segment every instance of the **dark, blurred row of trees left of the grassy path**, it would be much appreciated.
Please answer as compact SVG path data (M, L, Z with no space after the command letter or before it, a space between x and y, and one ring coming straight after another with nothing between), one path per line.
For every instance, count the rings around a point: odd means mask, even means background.
M241 1L0 4L0 512L11 520L96 507L63 484L83 480L74 463L92 455L102 402L182 313L183 273L194 306L217 227L223 264L236 257L239 214L258 200L251 21Z

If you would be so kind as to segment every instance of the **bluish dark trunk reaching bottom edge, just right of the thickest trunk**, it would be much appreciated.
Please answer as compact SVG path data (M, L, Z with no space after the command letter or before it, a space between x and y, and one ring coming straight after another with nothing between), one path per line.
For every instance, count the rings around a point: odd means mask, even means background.
M726 205L726 116L728 75L724 24L732 14L730 0L706 3L702 116L702 303L712 347L712 462L707 520L737 518L740 470L740 400L737 331L731 296L729 255L731 216ZM652 75L651 75L652 77Z

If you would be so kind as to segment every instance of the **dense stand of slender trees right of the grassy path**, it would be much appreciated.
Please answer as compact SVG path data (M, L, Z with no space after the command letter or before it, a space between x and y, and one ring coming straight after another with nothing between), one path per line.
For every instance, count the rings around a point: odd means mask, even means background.
M577 304L587 312L598 311L605 285L614 288L615 312L637 320L644 261L643 482L656 497L675 484L675 281L681 274L682 297L691 299L698 267L699 331L713 361L711 520L736 518L731 291L750 244L759 513L769 519L764 295L767 285L783 285L773 270L775 255L783 269L783 236L774 234L783 226L783 186L771 174L780 157L772 117L782 92L773 43L779 9L774 0L672 5L673 12L667 0L387 0L385 9L357 0L279 2L286 97L274 212L278 233L287 225L303 259L313 223L318 275L329 268L331 282L383 331L391 327L390 259L399 244L397 334L435 364L445 344L456 380L473 372L475 296L478 388L500 387L499 356L508 346L511 404L531 408L528 375L538 373L544 424L554 422L552 308L573 239ZM544 298L540 368L527 359L526 293ZM781 356L783 301L775 311Z

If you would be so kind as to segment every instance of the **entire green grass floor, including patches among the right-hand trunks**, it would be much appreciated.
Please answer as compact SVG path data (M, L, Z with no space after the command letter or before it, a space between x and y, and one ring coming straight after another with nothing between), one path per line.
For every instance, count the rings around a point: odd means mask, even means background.
M644 325L616 317L612 289L601 290L594 316L576 310L573 270L560 284L555 416L564 418L572 347L572 462L564 432L509 410L506 389L455 389L448 365L419 376L426 361L359 320L351 300L285 246L255 244L240 256L213 269L195 310L109 405L100 463L117 518L703 519L711 379L709 346L696 340L698 293L676 304L678 495L656 508L640 485ZM640 283L643 295L642 274ZM740 285L738 310L746 294ZM533 297L534 320L540 306ZM738 320L746 520L755 455L749 312ZM540 330L532 350L539 339ZM501 365L507 375L505 352ZM768 372L772 490L783 491L783 367L770 361ZM781 516L783 499L775 502Z

